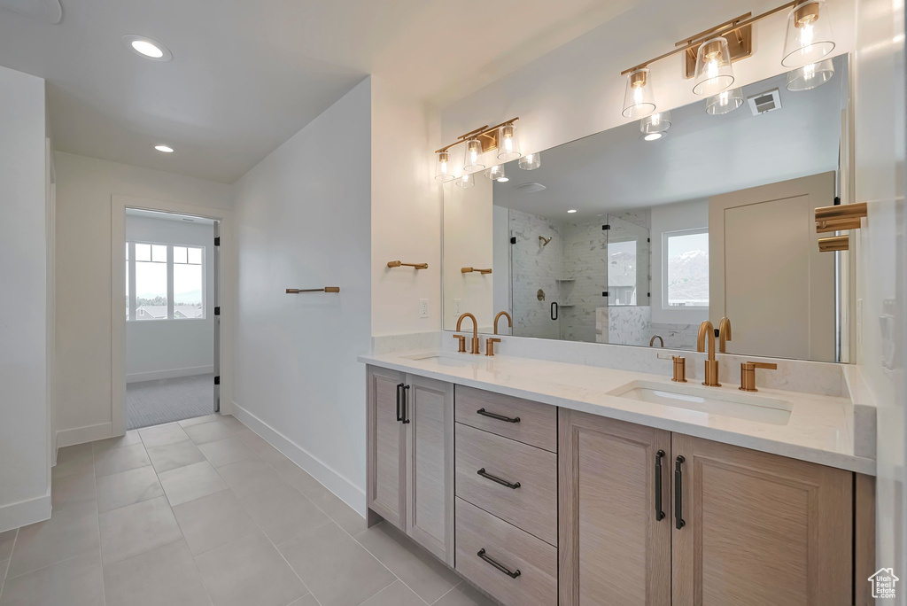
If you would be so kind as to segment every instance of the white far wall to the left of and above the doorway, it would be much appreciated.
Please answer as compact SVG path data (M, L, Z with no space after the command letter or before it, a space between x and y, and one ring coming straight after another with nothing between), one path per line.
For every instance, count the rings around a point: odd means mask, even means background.
M54 163L56 429L59 444L66 445L112 431L112 195L229 209L233 191L222 183L70 153L54 153Z

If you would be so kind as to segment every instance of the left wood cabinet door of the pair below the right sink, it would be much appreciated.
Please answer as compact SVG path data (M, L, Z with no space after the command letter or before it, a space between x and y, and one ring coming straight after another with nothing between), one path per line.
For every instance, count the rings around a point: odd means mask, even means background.
M670 434L559 414L559 603L670 604Z

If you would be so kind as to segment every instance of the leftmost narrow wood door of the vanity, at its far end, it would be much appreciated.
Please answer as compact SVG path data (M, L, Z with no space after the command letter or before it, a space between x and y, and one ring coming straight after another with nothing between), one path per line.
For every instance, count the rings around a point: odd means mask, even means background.
M405 425L397 420L397 386L401 385L405 385L403 373L369 367L368 507L405 531Z

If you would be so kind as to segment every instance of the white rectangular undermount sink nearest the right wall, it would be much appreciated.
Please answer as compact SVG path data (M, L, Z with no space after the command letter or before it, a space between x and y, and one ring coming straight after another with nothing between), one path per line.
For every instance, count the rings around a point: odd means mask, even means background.
M609 392L609 396L684 408L707 416L729 416L769 425L787 425L794 409L790 402L776 397L656 381L633 381Z

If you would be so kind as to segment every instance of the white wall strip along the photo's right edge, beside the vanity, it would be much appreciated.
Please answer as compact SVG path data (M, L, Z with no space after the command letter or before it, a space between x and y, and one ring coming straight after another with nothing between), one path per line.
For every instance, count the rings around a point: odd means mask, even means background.
M876 567L893 567L907 604L907 209L904 204L904 13L889 0L857 7L854 65L856 200L869 216L857 249L857 365L878 406Z

